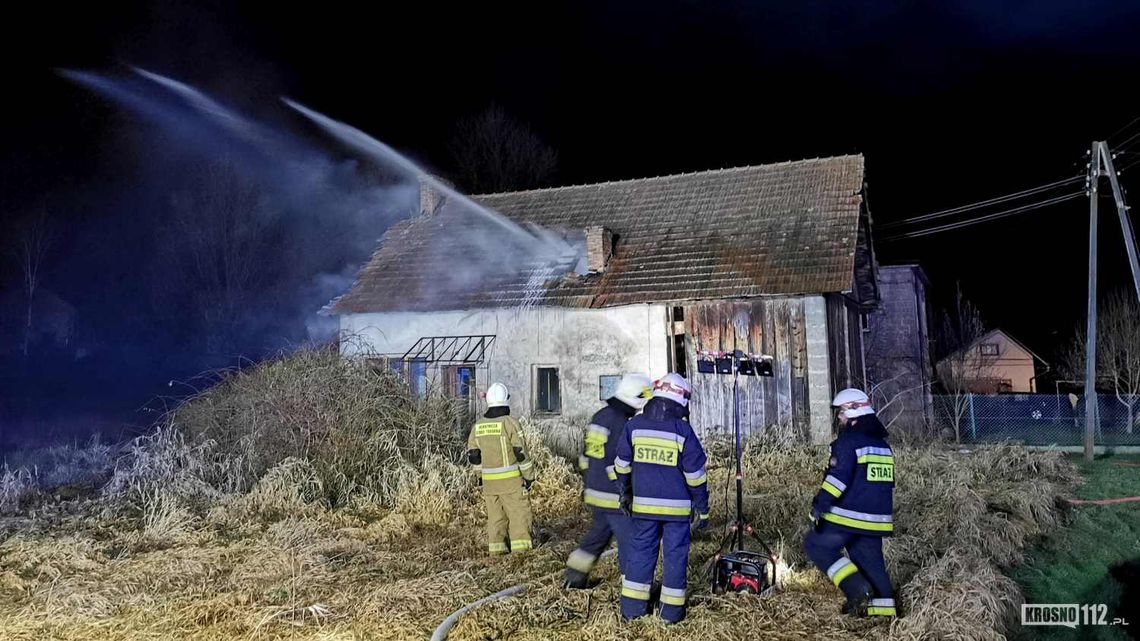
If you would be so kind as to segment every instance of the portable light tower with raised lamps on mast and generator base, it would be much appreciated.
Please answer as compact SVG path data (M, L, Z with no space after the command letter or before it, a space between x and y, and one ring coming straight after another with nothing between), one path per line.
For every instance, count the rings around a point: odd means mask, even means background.
M736 463L736 518L709 569L709 579L714 594L739 592L742 594L771 594L776 589L776 555L762 539L756 530L744 520L744 474L741 465L742 446L740 437L740 375L771 376L772 357L744 354L740 350L731 352L701 351L700 356L708 358L705 366L698 362L698 372L705 374L732 374L732 431ZM715 360L714 360L715 359ZM756 541L763 552L748 550L747 537ZM728 550L727 552L725 550Z

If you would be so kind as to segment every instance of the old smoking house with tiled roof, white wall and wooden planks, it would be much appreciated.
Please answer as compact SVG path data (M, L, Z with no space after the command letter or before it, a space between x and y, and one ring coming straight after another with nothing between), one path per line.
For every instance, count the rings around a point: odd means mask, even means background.
M326 311L345 355L472 407L504 382L536 419L585 420L624 372L677 371L693 425L731 430L732 376L698 362L767 355L772 376L740 381L744 433L825 443L878 303L862 193L860 155L474 197L503 219L425 187Z

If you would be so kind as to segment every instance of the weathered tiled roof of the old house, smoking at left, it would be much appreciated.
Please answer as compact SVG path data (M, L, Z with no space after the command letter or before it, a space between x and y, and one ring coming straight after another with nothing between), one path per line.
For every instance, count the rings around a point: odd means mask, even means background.
M473 196L520 225L612 230L602 273L518 265L527 249L488 216L446 202L384 234L329 314L546 305L611 307L852 289L863 156Z

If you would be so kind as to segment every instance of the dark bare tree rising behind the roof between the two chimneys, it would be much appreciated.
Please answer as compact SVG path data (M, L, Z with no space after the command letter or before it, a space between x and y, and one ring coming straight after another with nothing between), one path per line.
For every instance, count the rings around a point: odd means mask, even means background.
M459 120L449 149L459 182L471 193L542 187L559 163L553 148L498 105Z

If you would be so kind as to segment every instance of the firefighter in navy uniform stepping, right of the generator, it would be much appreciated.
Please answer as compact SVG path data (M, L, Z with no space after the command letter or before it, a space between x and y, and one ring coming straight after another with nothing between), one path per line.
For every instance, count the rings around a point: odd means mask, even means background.
M812 502L815 528L804 549L847 597L844 614L893 617L895 593L882 558L882 538L894 529L895 459L887 429L861 390L845 389L831 405L840 430Z

